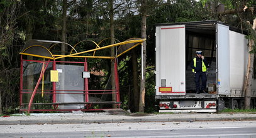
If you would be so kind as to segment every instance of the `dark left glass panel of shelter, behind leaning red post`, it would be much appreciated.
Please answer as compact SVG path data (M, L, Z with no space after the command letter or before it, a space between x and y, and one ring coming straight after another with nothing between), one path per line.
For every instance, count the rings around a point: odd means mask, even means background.
M28 104L31 98L31 94L35 89L36 83L40 78L40 74L45 68L47 61L26 61L23 60L23 81L22 83L22 102ZM47 69L40 81L34 103L45 103L52 101L52 95L47 93L52 93L52 82L50 82L50 70L52 70L52 62L47 66Z

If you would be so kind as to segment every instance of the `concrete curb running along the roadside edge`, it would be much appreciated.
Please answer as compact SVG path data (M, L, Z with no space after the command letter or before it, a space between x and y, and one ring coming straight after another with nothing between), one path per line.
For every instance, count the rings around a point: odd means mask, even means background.
M103 120L6 120L0 125L26 125L26 124L91 124L91 123L123 123L123 122L194 122L194 121L219 121L219 120L256 120L256 117L220 117L220 118L182 118L182 119L103 119Z

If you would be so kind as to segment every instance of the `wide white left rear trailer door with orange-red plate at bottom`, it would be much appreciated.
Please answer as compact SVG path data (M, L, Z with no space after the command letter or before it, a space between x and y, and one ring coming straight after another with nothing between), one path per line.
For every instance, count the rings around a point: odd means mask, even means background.
M185 95L185 25L157 26L155 31L156 95Z

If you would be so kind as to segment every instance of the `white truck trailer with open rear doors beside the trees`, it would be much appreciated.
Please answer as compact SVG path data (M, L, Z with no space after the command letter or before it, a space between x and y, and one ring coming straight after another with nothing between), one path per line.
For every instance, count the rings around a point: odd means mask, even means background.
M219 21L155 25L155 99L159 112L242 109L247 72L246 33ZM208 60L208 93L195 92L190 63L196 51ZM256 76L256 75L255 75ZM255 108L253 76L251 107Z

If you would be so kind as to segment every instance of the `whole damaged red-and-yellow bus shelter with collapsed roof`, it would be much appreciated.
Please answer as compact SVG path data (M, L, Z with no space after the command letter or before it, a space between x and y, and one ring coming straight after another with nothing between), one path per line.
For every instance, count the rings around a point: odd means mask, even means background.
M89 111L111 109L112 105L120 108L117 58L142 45L145 39L131 38L113 45L101 46L108 39L110 38L99 43L84 40L74 46L60 41L28 41L20 53L19 111ZM85 43L91 43L94 48L79 48L79 45ZM61 45L69 46L69 53L61 55ZM115 56L104 52L112 47L116 48ZM106 56L99 56L97 53L105 53ZM114 60L115 89L104 87L103 90L97 90L99 84L92 80L92 68L95 69L95 66L88 65L88 60L94 60L93 63L96 64ZM101 70L97 70L97 73L100 75ZM112 98L108 98L108 95Z

